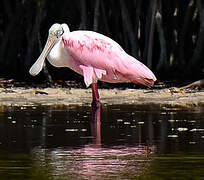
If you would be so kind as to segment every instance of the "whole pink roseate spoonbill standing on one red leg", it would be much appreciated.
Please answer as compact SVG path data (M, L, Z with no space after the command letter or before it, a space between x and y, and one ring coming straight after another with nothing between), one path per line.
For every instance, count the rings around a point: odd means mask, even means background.
M92 85L95 102L99 102L98 80L145 86L156 81L152 71L128 55L117 42L93 31L70 32L67 24L51 26L46 45L29 71L31 75L42 70L46 57L55 67L69 67L83 75L86 86Z

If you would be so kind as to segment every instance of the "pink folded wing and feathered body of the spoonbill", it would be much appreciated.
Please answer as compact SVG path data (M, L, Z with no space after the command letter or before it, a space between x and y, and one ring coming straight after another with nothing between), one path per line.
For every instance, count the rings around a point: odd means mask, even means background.
M86 86L106 82L134 82L153 85L156 77L144 64L128 55L112 39L92 31L73 31L63 36L64 45L78 66ZM80 70L78 70L80 68Z

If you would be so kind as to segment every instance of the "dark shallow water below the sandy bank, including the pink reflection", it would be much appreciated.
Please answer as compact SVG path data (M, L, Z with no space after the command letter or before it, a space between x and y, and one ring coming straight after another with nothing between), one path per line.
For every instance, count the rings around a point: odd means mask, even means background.
M204 179L204 108L0 108L1 179Z

